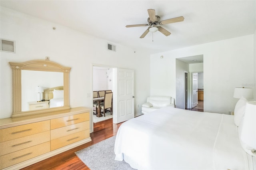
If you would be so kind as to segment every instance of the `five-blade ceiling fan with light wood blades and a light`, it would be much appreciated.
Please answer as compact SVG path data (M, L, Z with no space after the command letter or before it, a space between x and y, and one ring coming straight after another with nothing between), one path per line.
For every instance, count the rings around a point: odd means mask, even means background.
M128 25L126 28L129 27L140 27L140 26L149 26L148 29L140 36L140 38L144 38L148 32L156 32L160 31L162 34L165 36L170 36L170 32L168 32L166 29L162 28L159 25L164 25L164 24L171 24L174 22L182 22L184 20L183 16L177 17L177 18L171 18L168 20L162 20L160 21L160 17L156 15L155 10L148 9L148 24L136 24L136 25Z

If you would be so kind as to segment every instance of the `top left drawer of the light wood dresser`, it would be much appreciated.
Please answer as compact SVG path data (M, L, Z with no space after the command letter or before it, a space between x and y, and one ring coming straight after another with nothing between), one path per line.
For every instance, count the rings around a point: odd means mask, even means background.
M0 129L0 142L50 130L50 120Z

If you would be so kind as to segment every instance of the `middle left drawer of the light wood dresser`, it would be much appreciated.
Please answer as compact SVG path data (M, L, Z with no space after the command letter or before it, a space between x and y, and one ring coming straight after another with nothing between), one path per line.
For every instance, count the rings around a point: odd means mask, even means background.
M50 130L0 143L0 156L50 141Z

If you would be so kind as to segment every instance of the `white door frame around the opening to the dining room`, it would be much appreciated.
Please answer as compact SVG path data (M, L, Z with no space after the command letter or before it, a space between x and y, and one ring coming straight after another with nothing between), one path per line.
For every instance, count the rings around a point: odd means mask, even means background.
M91 94L93 94L93 67L106 67L106 68L111 68L112 69L112 74L113 74L113 77L112 77L112 91L113 91L113 111L112 111L112 114L113 114L113 123L114 123L114 115L116 115L116 70L117 70L117 67L116 66L113 66L113 65L104 65L104 64L98 64L98 63L92 63L91 64ZM91 114L90 114L90 133L93 132L93 95L91 95L91 106L92 106L92 109L91 109Z

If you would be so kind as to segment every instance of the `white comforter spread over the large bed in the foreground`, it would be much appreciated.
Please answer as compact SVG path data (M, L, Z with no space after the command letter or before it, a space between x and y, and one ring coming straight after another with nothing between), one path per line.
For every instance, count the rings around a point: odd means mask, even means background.
M114 151L136 169L249 169L233 116L173 107L123 123Z

